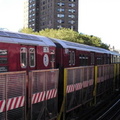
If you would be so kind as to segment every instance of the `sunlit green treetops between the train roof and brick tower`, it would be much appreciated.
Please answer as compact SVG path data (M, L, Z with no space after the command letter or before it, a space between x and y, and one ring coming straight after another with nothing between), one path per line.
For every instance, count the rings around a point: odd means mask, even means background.
M61 40L67 40L71 42L77 42L82 44L87 44L96 47L102 47L108 49L109 46L102 43L99 37L93 35L85 35L79 34L76 31L68 28L61 28L61 29L45 29L39 32L33 32L31 28L23 28L20 32L28 33L28 34L35 34L35 35L42 35L50 38L57 38Z

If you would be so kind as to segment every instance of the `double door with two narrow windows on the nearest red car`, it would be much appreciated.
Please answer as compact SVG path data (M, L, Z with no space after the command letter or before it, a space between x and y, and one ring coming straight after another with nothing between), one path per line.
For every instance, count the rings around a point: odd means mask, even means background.
M21 46L20 48L20 70L36 69L36 47Z

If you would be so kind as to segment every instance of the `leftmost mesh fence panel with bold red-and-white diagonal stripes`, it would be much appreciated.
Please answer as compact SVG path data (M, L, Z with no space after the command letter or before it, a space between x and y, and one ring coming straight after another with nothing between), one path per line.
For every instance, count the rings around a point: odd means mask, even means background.
M0 73L0 120L25 120L26 72Z

